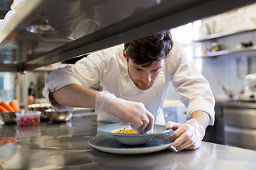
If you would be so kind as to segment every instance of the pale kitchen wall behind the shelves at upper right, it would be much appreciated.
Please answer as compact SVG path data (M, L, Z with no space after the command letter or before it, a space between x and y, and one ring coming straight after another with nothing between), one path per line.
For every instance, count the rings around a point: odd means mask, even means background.
M256 4L252 4L234 11L222 13L218 16L204 18L200 21L199 26L198 24L192 24L191 26L191 33L193 34L191 36L193 40L191 40L190 45L194 50L190 52L187 50L186 52L188 52L188 56L193 55L193 57L191 57L193 61L196 59L198 62L198 59L201 59L201 64L199 64L198 69L200 69L204 77L208 79L217 100L228 98L222 86L225 86L225 89L233 93L235 98L238 98L238 93L245 87L243 81L245 75L256 73L256 50L252 50L252 52L239 51L242 50L241 42L251 41L254 46L256 44L256 30L254 30L256 29L255 8ZM195 23L198 23L198 21ZM183 28L175 29L182 30ZM176 32L176 30L172 32L174 37L174 33ZM236 32L240 33L233 34ZM215 35L220 37L207 39ZM186 37L185 41L187 41L187 39L189 38ZM179 38L178 41L182 43L184 40ZM201 50L201 52L199 52L201 56L206 55L208 47L213 42L216 42L222 47L220 50L235 50L238 52L215 57L200 57L200 55L197 55L198 52L196 52L195 49ZM183 46L186 49L189 45L185 43ZM175 89L170 86L167 99L178 98L179 96L176 94Z

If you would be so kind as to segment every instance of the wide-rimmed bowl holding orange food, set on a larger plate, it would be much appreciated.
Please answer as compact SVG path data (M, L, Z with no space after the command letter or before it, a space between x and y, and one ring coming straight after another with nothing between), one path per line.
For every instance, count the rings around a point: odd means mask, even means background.
M117 130L122 130L124 128L130 128L129 125L122 125L120 123L114 123L110 125L102 125L97 130L99 132L113 135L119 142L125 145L143 145L146 142L149 142L154 135L159 135L163 133L171 133L171 130L166 130L164 125L154 125L154 133L141 133L141 134L122 134L114 133Z

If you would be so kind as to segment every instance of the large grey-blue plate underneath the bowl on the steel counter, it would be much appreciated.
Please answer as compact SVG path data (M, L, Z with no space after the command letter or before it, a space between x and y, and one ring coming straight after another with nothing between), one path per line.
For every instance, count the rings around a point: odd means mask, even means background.
M98 135L89 140L89 144L102 152L113 154L146 154L158 152L171 146L169 135L155 135L144 145L123 145L112 135Z

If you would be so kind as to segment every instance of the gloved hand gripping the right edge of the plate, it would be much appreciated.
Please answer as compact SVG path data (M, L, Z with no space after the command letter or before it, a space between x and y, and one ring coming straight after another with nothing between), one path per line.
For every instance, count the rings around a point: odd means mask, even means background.
M166 129L174 130L170 137L173 147L177 150L196 149L201 146L201 140L206 130L196 119L190 119L184 124L167 122Z

